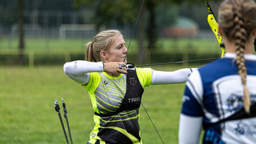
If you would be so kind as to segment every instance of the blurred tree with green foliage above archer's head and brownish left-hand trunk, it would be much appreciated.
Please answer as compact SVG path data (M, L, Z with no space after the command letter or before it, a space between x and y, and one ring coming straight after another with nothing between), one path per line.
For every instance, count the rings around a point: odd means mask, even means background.
M113 19L116 19L118 24L132 22L135 24L142 1L143 0L75 0L73 5L76 9L82 9L84 6L93 6L95 8L95 18L93 21L97 23L98 26L101 24L111 23ZM145 27L144 24L142 24L144 23L144 15L145 8L142 8L138 27L136 28L138 31L138 44L140 48L137 56L139 63L144 63L145 57L145 49L143 44Z

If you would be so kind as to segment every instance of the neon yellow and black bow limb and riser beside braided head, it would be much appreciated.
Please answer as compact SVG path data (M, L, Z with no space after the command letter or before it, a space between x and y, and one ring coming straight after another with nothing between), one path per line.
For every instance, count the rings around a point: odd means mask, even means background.
M223 57L225 55L225 47L224 47L224 41L223 41L223 38L222 36L219 34L219 29L218 29L218 22L212 12L212 9L209 5L209 3L207 2L207 0L204 0L205 2L205 5L208 9L208 12L209 12L209 15L207 17L207 21L212 29L212 32L214 33L214 35L216 36L217 38L217 41L220 45L220 48L221 48L221 57Z

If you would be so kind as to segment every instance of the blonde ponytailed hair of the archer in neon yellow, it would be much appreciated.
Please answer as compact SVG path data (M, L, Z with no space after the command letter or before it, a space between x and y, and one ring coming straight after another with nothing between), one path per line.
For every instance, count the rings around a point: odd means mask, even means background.
M100 52L102 50L108 51L118 36L123 37L119 30L113 29L98 33L92 42L87 43L85 60L90 62L104 61L101 59Z

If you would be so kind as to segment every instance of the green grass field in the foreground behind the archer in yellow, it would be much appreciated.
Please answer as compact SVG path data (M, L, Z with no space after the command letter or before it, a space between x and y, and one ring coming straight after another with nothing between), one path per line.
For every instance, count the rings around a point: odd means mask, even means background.
M190 65L198 67L198 65ZM173 71L181 65L152 67ZM94 127L93 109L86 90L69 79L62 66L0 67L0 143L60 144L65 137L54 100L66 102L75 144L85 144ZM146 87L142 103L165 144L178 143L178 124L183 84ZM161 143L144 109L140 108L144 144ZM61 106L63 116L63 108ZM66 124L65 124L66 125ZM67 130L67 128L66 128Z

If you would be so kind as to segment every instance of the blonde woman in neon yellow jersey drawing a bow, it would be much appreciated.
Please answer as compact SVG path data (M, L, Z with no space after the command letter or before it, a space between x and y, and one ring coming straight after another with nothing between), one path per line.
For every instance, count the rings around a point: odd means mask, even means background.
M65 74L91 98L95 126L88 144L142 144L139 107L143 87L183 83L192 69L174 72L126 68L127 48L118 30L106 30L87 44L85 61L64 65ZM127 64L127 65L126 65Z

